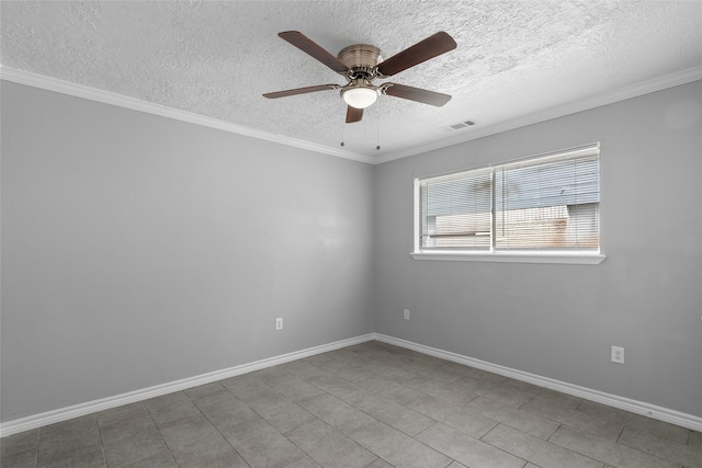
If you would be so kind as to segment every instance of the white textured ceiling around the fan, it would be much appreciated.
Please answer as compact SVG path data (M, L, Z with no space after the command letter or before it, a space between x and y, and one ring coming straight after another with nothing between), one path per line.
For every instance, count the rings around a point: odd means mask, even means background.
M0 15L3 67L376 158L702 65L697 1L2 1ZM453 99L381 96L354 124L338 91L267 100L346 82L278 37L290 30L386 58L445 31L455 50L392 81Z

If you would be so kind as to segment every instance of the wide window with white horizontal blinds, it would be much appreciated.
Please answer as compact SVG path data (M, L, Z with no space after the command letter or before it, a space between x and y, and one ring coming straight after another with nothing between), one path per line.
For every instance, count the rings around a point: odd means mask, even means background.
M600 263L599 145L415 180L416 259Z

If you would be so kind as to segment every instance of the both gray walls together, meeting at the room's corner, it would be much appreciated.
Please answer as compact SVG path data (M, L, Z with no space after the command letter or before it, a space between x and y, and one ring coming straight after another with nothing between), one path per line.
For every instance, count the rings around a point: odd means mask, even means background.
M701 82L376 167L1 92L2 421L374 330L702 415ZM414 176L593 141L602 264L409 256Z

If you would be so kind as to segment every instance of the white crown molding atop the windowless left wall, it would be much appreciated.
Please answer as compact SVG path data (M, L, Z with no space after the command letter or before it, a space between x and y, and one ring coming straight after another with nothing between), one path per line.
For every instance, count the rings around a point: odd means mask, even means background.
M146 112L148 114L159 115L161 117L173 118L181 122L188 122L195 125L202 125L210 128L230 132L233 134L306 149L314 152L321 152L324 155L336 156L338 158L351 159L353 161L364 162L367 164L373 164L376 160L376 158L374 157L360 155L353 151L346 151L341 149L330 148L324 145L304 141L296 138L275 135L268 132L261 132L253 128L245 127L242 125L233 124L230 122L220 121L218 118L206 117L204 115L181 111L178 109L169 107L167 105L141 101L123 94L103 91L83 84L71 83L69 81L58 80L56 78L45 77L43 75L32 73L29 71L18 70L7 66L0 66L0 79L19 84L44 89L47 91L54 91L61 94L68 94L76 98L88 99L91 101L101 102L103 104L116 105L133 111Z

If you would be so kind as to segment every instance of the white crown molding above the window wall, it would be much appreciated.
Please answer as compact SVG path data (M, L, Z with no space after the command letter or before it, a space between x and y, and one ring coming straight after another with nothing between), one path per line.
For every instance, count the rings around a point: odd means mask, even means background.
M566 115L576 114L578 112L588 111L590 109L600 107L607 104L625 101L627 99L639 95L661 91L668 88L690 83L692 81L702 80L702 66L688 68L675 73L665 75L646 81L622 87L612 91L607 91L578 101L574 101L564 105L551 107L534 114L523 115L494 125L468 130L461 137L444 139L429 145L418 146L407 150L395 151L383 155L374 160L375 164L394 161L396 159L407 158L410 156L421 155L423 152L445 148L449 146L460 145L462 142L484 138L490 135L500 134L502 132L513 130L528 125L539 124L541 122L551 121L553 118L564 117Z

